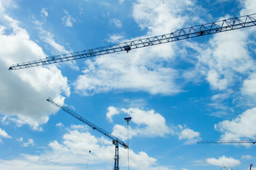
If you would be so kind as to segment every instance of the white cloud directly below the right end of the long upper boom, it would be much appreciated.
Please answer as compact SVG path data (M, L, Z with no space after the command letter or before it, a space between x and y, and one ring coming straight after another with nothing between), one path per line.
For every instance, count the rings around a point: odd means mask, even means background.
M216 34L209 44L198 45L199 52L196 68L206 76L213 89L225 90L240 83L243 76L255 70L254 61L247 52L248 30ZM193 47L192 47L193 48Z

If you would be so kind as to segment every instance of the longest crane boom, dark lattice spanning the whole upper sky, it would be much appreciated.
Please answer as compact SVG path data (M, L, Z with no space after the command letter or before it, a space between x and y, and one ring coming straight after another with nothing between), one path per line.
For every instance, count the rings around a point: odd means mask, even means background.
M199 26L192 26L176 30L173 33L164 35L157 35L149 38L142 38L139 40L131 40L128 42L121 42L115 45L107 45L105 47L97 47L90 50L82 50L79 52L70 52L63 55L55 55L46 57L41 60L31 62L23 62L13 64L9 69L25 69L29 67L37 67L46 64L53 64L58 62L66 62L70 60L78 60L82 58L95 57L98 55L106 55L114 52L122 52L141 47L148 47L151 45L159 45L166 42L174 42L178 40L185 40L188 38L196 38L202 35L210 35L221 33L228 30L236 30L240 28L247 28L256 26L256 13L247 16L239 16L235 18L225 19L223 21L215 21L213 23L206 23Z

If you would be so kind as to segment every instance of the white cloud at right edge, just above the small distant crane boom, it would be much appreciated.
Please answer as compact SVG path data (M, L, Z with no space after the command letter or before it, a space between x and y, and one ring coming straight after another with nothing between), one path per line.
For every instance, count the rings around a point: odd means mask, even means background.
M240 137L255 138L253 127L256 121L256 108L249 109L233 120L224 120L215 124L215 130L223 133L222 140L239 140Z

